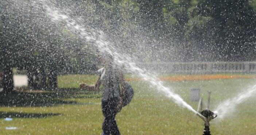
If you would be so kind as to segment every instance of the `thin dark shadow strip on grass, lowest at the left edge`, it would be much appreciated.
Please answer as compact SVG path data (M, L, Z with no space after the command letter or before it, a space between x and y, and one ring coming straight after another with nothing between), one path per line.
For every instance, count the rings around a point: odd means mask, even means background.
M46 118L49 116L60 116L54 113L21 113L21 112L1 112L0 119L3 118Z

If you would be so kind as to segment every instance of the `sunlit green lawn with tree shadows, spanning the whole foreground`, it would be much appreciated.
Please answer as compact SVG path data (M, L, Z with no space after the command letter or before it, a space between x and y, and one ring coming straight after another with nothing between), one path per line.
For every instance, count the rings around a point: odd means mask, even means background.
M21 91L11 96L0 96L0 134L82 134L100 135L103 116L101 92L74 89L80 82L93 84L97 76L59 76L61 90ZM147 82L129 82L135 95L132 102L116 116L123 135L161 135L203 133L203 121L192 111L179 107L164 94L151 88ZM200 88L203 102L212 92L210 109L221 101L236 96L255 79L217 79L164 82L194 109L197 102L190 101L190 89ZM238 104L236 112L226 119L218 117L211 122L212 135L254 135L256 132L255 96ZM11 117L12 121L4 118ZM17 130L6 130L17 127Z

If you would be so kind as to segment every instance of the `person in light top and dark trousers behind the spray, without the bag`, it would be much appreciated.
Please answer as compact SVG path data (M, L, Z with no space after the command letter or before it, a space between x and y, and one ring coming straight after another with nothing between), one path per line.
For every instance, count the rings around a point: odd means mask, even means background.
M100 76L98 77L96 84L89 86L85 83L80 83L80 88L96 91L99 90L102 84L102 98L101 107L104 115L104 121L102 123L102 135L120 135L115 116L118 112L117 107L120 106L120 78L123 78L123 74L119 74L117 66L112 64L113 58L109 55L100 57L100 61L104 64L104 67L98 70Z

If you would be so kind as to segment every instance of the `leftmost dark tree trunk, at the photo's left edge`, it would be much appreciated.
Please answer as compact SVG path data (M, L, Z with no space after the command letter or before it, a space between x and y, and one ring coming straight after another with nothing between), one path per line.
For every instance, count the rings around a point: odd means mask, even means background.
M3 86L4 92L7 94L13 93L15 91L13 85L13 72L11 67L4 68Z

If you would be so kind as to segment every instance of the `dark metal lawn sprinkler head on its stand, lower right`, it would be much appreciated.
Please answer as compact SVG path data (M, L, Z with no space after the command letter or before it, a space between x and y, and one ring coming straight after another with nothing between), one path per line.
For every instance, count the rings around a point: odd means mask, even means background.
M211 135L210 134L210 121L217 117L217 112L212 112L209 109L203 110L201 113L197 113L203 121L205 122L205 129L203 131L203 135Z

